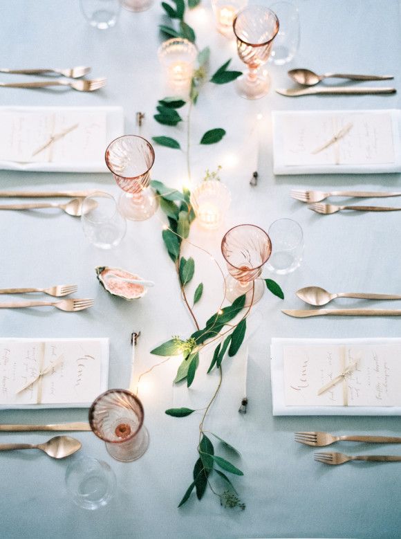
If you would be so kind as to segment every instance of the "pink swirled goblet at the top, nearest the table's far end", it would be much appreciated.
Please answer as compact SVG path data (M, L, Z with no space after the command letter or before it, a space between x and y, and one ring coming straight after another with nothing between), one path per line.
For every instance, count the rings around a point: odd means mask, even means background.
M259 99L270 89L268 72L259 68L269 59L279 19L268 8L250 6L235 17L233 28L238 55L248 66L248 73L236 79L236 90L243 98Z

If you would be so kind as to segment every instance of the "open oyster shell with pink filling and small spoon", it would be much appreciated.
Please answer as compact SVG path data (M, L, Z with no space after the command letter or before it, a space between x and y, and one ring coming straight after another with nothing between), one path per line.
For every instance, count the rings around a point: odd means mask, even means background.
M97 279L103 288L119 298L129 301L138 300L147 293L147 286L144 284L124 281L124 279L143 280L142 277L135 273L121 268L110 268L109 266L97 266L95 271ZM107 275L115 275L115 277L107 277ZM121 278L119 279L118 277Z

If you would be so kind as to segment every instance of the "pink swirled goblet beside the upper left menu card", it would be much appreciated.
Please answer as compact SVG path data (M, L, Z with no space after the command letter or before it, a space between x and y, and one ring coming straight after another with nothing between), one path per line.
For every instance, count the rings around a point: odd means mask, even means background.
M120 212L131 221L149 219L158 208L149 188L155 161L151 143L137 135L120 136L109 144L105 158L118 187L124 191L118 202Z

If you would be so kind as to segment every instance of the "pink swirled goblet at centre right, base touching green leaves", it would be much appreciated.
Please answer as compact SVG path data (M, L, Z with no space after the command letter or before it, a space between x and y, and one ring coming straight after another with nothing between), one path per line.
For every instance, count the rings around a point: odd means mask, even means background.
M272 252L272 243L266 232L255 225L238 225L231 228L221 241L221 253L229 275L225 278L227 299L234 301L246 294L246 302L258 302L265 286L258 277Z

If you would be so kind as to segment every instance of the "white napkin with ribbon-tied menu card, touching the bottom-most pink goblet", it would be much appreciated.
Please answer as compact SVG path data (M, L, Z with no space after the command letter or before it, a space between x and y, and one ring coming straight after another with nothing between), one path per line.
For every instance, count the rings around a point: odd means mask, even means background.
M0 408L86 407L108 376L109 339L0 339Z

